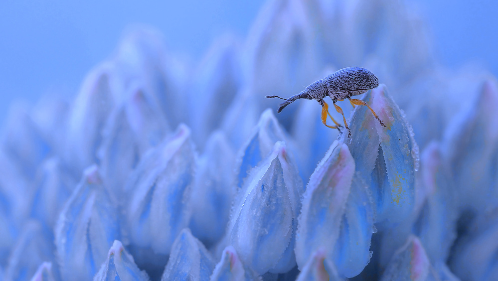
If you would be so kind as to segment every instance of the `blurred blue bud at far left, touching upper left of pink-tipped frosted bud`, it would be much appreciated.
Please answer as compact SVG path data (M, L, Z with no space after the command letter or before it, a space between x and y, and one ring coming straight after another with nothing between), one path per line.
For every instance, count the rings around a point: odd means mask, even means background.
M51 157L38 167L30 204L30 217L53 229L57 217L71 196L77 181L62 165L59 158Z

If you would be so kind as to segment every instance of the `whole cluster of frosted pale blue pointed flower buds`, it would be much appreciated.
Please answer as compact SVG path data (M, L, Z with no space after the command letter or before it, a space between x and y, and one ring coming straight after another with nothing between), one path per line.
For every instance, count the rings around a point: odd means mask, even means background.
M11 107L0 280L498 280L498 83L436 67L422 27L395 0L271 0L195 68L132 30L73 102ZM268 109L346 66L380 78L385 127Z

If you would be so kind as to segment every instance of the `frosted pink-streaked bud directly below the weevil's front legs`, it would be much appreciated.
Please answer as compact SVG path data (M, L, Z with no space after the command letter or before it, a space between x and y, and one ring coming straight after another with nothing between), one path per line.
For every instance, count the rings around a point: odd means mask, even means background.
M368 264L373 210L366 184L354 171L349 149L334 141L303 196L296 242L301 269L319 250L340 276L356 276Z

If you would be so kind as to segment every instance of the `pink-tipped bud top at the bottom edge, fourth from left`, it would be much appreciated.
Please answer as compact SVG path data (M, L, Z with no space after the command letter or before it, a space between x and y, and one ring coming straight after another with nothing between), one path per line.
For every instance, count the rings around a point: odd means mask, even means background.
M242 263L232 246L223 250L220 262L214 268L210 281L261 281L261 277Z

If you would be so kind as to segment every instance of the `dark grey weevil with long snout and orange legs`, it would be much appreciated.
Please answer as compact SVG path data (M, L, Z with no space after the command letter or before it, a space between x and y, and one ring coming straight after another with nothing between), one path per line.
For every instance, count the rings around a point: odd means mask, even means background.
M361 95L370 89L376 88L377 86L379 86L379 79L371 71L362 67L346 67L335 71L324 79L316 81L306 87L306 89L301 93L288 99L284 99L279 96L266 96L266 98L279 98L285 100L285 102L280 104L277 113L280 113L286 106L295 100L316 100L322 106L322 123L324 123L325 126L337 129L340 132L340 127L342 126L332 118L332 115L329 113L329 105L324 101L325 97L328 96L332 99L335 110L342 115L344 127L347 129L349 138L351 136L351 131L347 126L346 118L344 117L342 109L335 103L337 101L348 99L353 107L355 105L364 105L370 109L373 116L375 116L375 118L380 122L380 125L385 128L386 126L384 123L367 103L362 100L351 99L352 96ZM332 122L335 124L334 126L327 125L327 116L332 119Z

